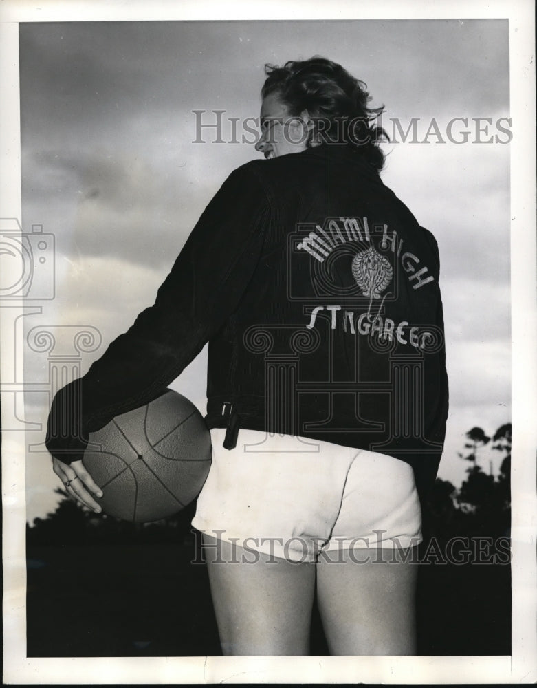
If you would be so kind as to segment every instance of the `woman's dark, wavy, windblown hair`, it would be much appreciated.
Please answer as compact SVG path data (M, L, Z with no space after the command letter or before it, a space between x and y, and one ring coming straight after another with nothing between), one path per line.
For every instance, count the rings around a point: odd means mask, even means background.
M314 122L314 129L307 140L349 144L362 153L366 160L381 170L384 153L381 140L389 140L380 126L375 126L384 106L369 108L371 100L366 84L341 65L323 57L304 61L289 61L283 67L265 65L267 78L261 89L265 98L276 93L287 107L289 115L299 116L307 110Z

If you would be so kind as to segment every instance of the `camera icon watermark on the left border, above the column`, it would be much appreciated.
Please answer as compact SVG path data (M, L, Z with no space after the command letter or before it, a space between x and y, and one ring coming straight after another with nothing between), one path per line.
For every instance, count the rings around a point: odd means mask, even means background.
M0 218L0 299L51 300L55 295L54 235L43 225L23 232L16 217Z

